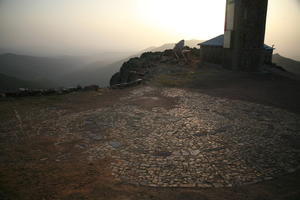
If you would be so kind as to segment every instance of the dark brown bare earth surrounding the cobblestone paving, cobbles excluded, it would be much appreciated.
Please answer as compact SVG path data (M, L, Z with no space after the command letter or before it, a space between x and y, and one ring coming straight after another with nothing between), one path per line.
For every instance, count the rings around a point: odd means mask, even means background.
M191 71L188 74L159 77L153 84L158 87L183 87L211 96L279 107L300 115L300 82L277 75ZM131 90L1 100L0 199L300 199L299 170L274 180L233 188L151 188L130 185L112 177L111 158L88 160L86 154L76 146L81 141L71 140L58 145L60 130L42 126L44 121L57 117L114 106ZM161 106L168 107L170 104L171 101L165 101ZM300 146L299 140L293 144Z

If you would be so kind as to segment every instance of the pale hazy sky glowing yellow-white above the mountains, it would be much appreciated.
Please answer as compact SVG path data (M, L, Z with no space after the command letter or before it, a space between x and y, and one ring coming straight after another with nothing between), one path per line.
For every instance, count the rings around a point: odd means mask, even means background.
M0 49L137 51L223 33L225 0L0 0ZM300 0L269 0L266 43L300 60Z

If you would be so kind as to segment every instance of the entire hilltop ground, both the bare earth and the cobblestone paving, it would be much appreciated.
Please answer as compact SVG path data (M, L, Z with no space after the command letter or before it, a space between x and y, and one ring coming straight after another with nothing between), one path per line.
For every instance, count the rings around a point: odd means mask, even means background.
M0 199L296 200L299 102L299 81L220 69L4 99Z

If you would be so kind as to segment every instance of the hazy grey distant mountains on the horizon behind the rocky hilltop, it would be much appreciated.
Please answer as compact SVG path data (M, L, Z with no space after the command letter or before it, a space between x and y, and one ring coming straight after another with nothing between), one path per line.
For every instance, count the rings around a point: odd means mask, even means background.
M186 45L198 47L201 40L188 40ZM0 55L0 89L74 87L97 84L107 87L111 76L122 64L143 52L172 49L175 43L150 47L133 53L102 53L87 57L34 57L17 54ZM128 56L131 55L131 56ZM123 58L122 58L123 57ZM287 71L300 74L300 62L275 54L273 62Z

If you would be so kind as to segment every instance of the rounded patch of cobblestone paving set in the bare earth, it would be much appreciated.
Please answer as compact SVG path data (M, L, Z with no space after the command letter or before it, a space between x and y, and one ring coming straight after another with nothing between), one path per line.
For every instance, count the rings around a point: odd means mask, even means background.
M110 108L57 122L88 159L112 157L126 183L231 187L291 173L300 163L300 117L184 89L139 87ZM72 128L69 128L72 127Z

